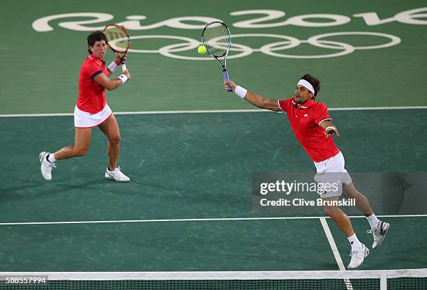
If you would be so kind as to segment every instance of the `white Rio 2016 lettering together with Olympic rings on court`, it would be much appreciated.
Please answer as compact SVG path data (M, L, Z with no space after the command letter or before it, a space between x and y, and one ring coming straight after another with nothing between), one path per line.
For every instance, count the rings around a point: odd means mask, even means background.
M244 20L239 22L232 23L231 26L237 27L239 29L267 29L279 26L304 26L304 27L329 27L329 26L340 26L351 22L352 19L345 15L338 14L306 14L306 15L297 15L287 18L280 22L272 22L274 20L278 21L280 18L285 16L285 12L280 10L241 10L234 11L230 13L232 16L241 16L241 15L262 15L262 17L256 17L250 20ZM390 22L400 22L403 24L411 25L427 25L427 20L422 18L427 18L427 7L416 8L412 10L405 10L403 12L397 13L393 17L380 19L380 17L375 12L367 13L358 13L352 15L353 17L362 18L367 26L377 26ZM59 26L64 29L70 29L74 31L94 31L97 29L103 29L103 26L85 26L87 24L100 24L111 22L114 19L114 15L107 13L64 13L57 15L50 15L46 17L39 18L35 20L32 24L33 29L38 32L48 32L54 30L52 26L49 25L49 22L52 20L60 20L63 18L70 17L91 17L92 20L78 20L78 21L67 21L59 22ZM125 21L118 22L117 24L124 26L128 31L144 31L150 29L156 29L162 26L168 26L174 29L203 29L203 27L212 21L221 21L220 19L213 17L204 17L204 16L183 16L183 17L174 17L168 20L163 20L157 23L142 25L141 22L146 20L147 17L144 15L130 15L126 17ZM311 20L311 21L310 21ZM313 20L322 20L322 21L313 21ZM200 24L190 24L188 22L200 22ZM130 33L131 35L133 33ZM360 45L354 46L348 43L343 43L336 40L327 40L325 38L332 38L334 36L370 36L380 38L380 44L378 45ZM211 60L211 58L200 57L200 56L183 56L176 54L177 52L185 52L188 50L195 49L200 45L200 40L188 38L184 36L177 35L142 35L142 36L131 36L132 40L138 39L171 39L179 40L179 43L172 45L165 45L159 49L137 49L135 45L129 52L142 53L142 54L161 54L163 56L171 57L174 59L184 59L184 60L196 60L196 61L205 61ZM344 56L346 54L351 54L352 52L359 49L380 49L385 47L392 47L400 43L400 38L387 33L377 33L369 31L343 31L343 32L334 32L334 33L322 33L315 36L310 36L306 40L300 40L293 36L284 36L281 34L270 34L270 33L241 33L233 34L233 46L232 54L229 56L229 59L237 59L240 57L248 56L254 52L261 52L269 56L276 56L281 58L289 59L324 59L335 56ZM267 45L262 45L260 47L249 47L248 45L243 45L236 43L237 38L276 38L279 41L275 43L269 43ZM384 43L384 39L387 40ZM301 44L309 44L314 47L320 47L323 49L331 49L332 52L328 54L314 54L314 55L297 55L297 54L285 54L283 51L286 49L292 49L298 47Z

